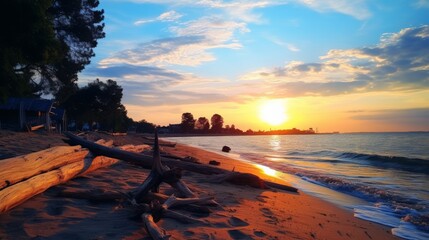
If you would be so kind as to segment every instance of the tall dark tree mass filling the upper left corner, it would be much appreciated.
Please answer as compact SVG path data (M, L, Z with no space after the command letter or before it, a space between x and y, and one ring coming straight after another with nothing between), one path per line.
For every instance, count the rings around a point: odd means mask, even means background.
M0 100L77 91L77 74L104 37L98 0L0 1Z

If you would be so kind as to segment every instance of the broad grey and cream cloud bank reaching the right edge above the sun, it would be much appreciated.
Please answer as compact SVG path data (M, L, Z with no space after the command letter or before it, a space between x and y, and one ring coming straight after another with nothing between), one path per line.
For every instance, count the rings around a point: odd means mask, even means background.
M242 79L269 82L283 97L428 89L429 26L384 34L373 47L331 50L319 63L290 62Z

